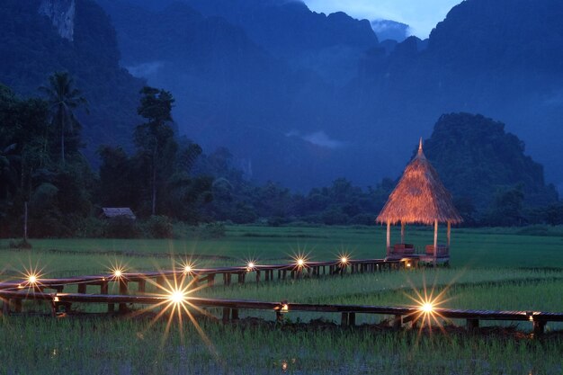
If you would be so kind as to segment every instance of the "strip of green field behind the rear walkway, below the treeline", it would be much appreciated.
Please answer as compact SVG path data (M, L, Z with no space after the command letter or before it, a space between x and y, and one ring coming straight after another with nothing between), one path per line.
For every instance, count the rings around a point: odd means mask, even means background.
M520 229L523 231L523 229ZM393 239L398 239L398 230ZM443 232L443 228L442 228ZM440 233L440 238L445 237ZM451 263L456 267L563 267L563 234L560 236L519 235L514 230L453 229ZM555 232L556 234L559 232ZM407 228L407 242L424 246L432 242L429 228ZM394 241L396 242L396 241ZM227 236L218 240L150 239L37 239L31 251L8 249L0 241L3 269L21 270L22 265L40 263L53 276L97 273L119 260L130 269L169 268L174 259L186 256L219 256L199 263L242 264L257 258L261 263L287 261L292 254L309 254L312 260L335 259L341 252L353 258L385 256L385 230L375 227L267 228L228 227Z

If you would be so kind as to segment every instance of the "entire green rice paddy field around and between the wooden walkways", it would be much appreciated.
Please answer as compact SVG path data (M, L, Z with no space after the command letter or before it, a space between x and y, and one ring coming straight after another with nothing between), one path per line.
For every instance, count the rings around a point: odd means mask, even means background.
M443 233L441 237L445 237ZM398 233L393 233L398 238ZM407 229L407 242L424 246L433 234ZM398 242L398 241L396 241ZM2 279L25 267L46 277L107 272L110 264L131 271L169 269L186 258L205 265L289 262L385 256L383 228L228 227L217 240L31 240L30 251L0 241ZM451 267L251 282L197 290L193 295L228 299L403 306L419 295L440 295L447 308L563 312L561 228L453 229ZM67 290L66 290L67 291ZM72 290L71 290L72 291ZM563 326L549 324L541 339L531 324L482 322L469 334L463 321L438 318L432 329L386 326L389 317L362 316L341 328L339 316L241 311L237 323L210 317L194 324L152 313L139 317L1 317L0 374L563 374ZM81 307L99 311L103 307ZM210 310L211 313L216 311ZM219 314L218 314L219 317ZM305 324L310 323L310 324Z

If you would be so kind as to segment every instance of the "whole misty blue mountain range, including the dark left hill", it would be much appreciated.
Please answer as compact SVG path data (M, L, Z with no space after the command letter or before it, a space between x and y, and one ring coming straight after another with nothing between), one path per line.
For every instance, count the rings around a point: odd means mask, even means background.
M138 121L142 81L120 69L121 60L174 94L183 134L204 149L228 147L258 181L299 191L338 176L373 185L398 175L442 113L472 112L503 121L546 166L548 181L563 184L554 152L562 136L563 4L554 0L467 0L429 40L393 46L380 43L370 22L295 2L98 3L118 44L90 1L76 2L87 21L76 17L72 43L39 14L39 1L2 10L0 80L32 94L52 71L69 70L105 113L85 122L89 147L129 142ZM22 43L31 49L13 53ZM45 57L30 53L44 50Z

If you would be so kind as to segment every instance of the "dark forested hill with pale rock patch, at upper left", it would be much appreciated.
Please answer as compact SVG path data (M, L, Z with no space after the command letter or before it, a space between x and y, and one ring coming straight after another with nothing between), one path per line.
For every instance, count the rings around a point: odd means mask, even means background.
M40 7L55 10L51 17ZM48 14L48 15L46 15ZM80 113L86 153L100 144L130 144L143 81L119 66L115 31L90 0L5 0L0 6L0 83L22 95L39 95L55 71L68 71L90 103Z

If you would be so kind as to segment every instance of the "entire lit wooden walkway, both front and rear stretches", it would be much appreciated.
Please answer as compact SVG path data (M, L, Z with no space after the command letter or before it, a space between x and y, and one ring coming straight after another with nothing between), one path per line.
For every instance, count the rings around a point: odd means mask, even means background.
M0 282L0 299L3 302L2 312L8 315L11 312L22 312L23 300L43 300L49 303L51 314L57 316L61 307L66 312L71 311L74 303L103 303L108 305L108 311L113 312L115 305L119 311L129 311L128 305L156 306L165 303L174 303L170 296L150 295L146 293L147 281L165 286L165 280L178 280L179 278L192 278L192 287L200 283L212 286L216 276L223 276L224 285L230 285L232 276L237 276L238 283L244 283L251 273L255 281L274 281L284 279L298 279L304 276L317 277L323 274L335 275L344 273L381 272L384 270L398 270L416 267L416 258L389 259L364 259L332 262L306 262L302 264L267 264L237 267L194 268L190 270L173 270L164 272L123 272L116 274L101 274L91 276L77 276L61 279L18 280ZM264 276L264 277L263 277ZM137 295L129 295L130 283L137 282ZM109 294L110 283L119 285L119 294ZM77 286L76 293L64 293L65 287ZM87 294L87 286L100 287L99 293ZM55 290L46 292L45 290ZM383 307L383 306L357 306L357 305L318 305L304 303L264 302L254 300L235 299L204 299L182 296L180 303L186 303L198 308L222 308L222 320L228 321L238 318L239 310L267 310L273 311L277 319L281 319L285 312L308 311L318 313L331 313L341 315L342 326L354 326L356 314L391 316L394 327L410 323L416 326L424 319L424 311L420 307ZM548 322L563 322L563 313L548 313L538 311L483 311L460 310L451 308L433 308L434 317L446 319L465 319L469 330L477 329L480 320L505 320L505 321L530 321L533 332L541 335Z

